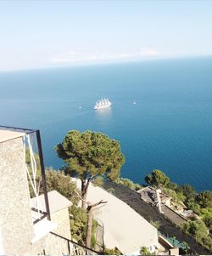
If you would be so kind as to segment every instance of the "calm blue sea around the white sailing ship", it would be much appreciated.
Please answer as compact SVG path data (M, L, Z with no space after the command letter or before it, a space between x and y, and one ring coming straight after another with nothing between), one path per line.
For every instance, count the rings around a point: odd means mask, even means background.
M94 111L103 97L112 108ZM70 129L90 129L120 141L122 177L142 184L158 168L212 190L209 57L1 72L0 122L39 128L46 167L63 164L53 148Z

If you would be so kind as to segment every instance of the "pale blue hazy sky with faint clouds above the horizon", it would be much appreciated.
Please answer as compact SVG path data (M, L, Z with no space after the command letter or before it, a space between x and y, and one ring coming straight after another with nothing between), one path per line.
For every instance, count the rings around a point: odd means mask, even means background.
M199 55L209 0L0 1L0 71Z

